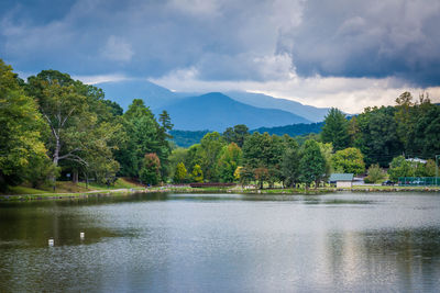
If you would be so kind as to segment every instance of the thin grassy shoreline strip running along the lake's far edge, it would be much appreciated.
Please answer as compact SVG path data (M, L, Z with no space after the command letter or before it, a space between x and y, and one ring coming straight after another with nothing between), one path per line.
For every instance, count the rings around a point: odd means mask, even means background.
M45 190L33 190L23 187L11 189L8 194L0 194L0 202L28 202L38 200L75 200L94 196L127 196L134 193L235 193L235 194L276 194L276 195L318 195L326 193L344 192L440 192L440 187L383 187L383 185L354 185L352 188L320 187L318 189L305 188L243 188L234 187L207 187L191 188L189 185L165 185L143 187L124 179L119 179L114 187L102 187L90 184L87 189L85 183L73 184L72 182L59 182L57 192ZM73 187L76 185L76 189ZM61 192L61 191L65 192ZM69 191L68 191L69 190Z

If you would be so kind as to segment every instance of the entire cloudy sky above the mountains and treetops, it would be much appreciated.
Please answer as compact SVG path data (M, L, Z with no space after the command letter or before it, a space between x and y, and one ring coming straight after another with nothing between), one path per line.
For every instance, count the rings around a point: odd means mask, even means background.
M0 58L88 83L243 90L337 106L440 102L438 0L2 0Z

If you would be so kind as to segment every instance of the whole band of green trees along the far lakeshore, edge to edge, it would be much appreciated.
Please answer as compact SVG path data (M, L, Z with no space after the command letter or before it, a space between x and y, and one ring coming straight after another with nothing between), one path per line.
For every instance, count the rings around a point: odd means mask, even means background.
M377 182L435 176L440 154L440 106L428 93L415 99L404 92L396 105L366 108L350 120L333 108L323 124L315 125L320 134L251 133L241 124L223 133L200 132L200 143L187 148L170 143L177 134L172 119L166 111L155 116L138 99L123 112L101 89L56 70L24 81L0 60L0 189L55 187L61 179L112 184L118 177L151 185L317 187L331 172L367 172ZM428 162L409 164L407 157Z

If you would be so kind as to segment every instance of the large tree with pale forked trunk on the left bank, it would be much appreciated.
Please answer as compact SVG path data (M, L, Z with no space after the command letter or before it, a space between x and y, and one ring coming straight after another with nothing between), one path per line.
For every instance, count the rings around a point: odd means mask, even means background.
M106 173L97 176L98 180L114 178L119 165L112 150L120 143L121 125L105 103L102 90L56 70L30 77L25 89L37 101L48 125L45 140L53 164L74 171Z

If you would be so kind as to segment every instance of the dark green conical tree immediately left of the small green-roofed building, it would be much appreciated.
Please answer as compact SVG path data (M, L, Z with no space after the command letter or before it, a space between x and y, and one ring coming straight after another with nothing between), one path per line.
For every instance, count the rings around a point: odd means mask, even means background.
M307 140L304 144L302 156L299 161L300 180L307 185L311 182L318 187L326 177L326 159L315 140Z

